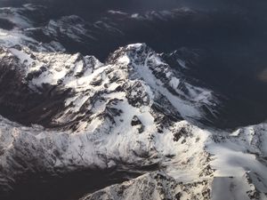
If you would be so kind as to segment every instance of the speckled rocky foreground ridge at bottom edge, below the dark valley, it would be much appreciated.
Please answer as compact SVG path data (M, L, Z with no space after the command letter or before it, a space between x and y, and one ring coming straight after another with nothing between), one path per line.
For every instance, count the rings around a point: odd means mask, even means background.
M207 180L183 184L163 172L153 172L121 185L101 189L82 199L209 199L209 187Z

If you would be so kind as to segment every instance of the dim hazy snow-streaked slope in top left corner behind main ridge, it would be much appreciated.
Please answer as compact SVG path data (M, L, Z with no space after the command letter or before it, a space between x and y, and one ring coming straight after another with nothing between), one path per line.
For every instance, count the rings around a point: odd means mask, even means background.
M46 23L49 12L44 6L24 4L20 8L0 8L0 44L4 47L28 46L35 52L64 52L55 39L40 42L31 33Z

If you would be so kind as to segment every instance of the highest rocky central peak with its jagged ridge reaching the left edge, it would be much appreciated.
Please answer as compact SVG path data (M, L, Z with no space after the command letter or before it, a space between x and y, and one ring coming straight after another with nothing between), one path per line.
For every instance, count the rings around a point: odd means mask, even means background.
M88 122L103 113L109 115L110 109L119 114L121 100L128 100L141 113L150 112L158 126L179 119L210 122L219 109L212 91L187 83L146 44L120 48L104 64L93 56L32 52L26 47L4 48L1 58L3 68L7 63L20 66L15 71L20 71L20 81L31 93L44 94L47 87L56 87L54 93L68 92L61 95L64 107L58 108L50 121L68 124L73 130L86 130ZM118 104L117 108L113 104ZM45 116L50 110L43 107L40 112Z

